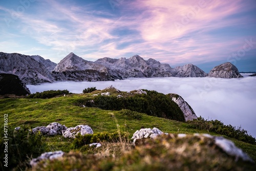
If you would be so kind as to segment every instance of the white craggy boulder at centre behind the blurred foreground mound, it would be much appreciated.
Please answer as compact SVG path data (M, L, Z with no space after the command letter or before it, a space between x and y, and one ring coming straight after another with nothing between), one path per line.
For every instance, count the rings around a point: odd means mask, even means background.
M155 138L158 135L162 135L163 132L154 127L153 129L147 128L147 129L140 129L137 130L133 134L133 142L135 143L137 139L144 139L144 138Z

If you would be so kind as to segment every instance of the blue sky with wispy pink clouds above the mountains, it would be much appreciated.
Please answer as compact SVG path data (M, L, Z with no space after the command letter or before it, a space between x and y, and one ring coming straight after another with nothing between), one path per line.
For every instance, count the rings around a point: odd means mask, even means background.
M256 0L1 0L0 51L256 71Z

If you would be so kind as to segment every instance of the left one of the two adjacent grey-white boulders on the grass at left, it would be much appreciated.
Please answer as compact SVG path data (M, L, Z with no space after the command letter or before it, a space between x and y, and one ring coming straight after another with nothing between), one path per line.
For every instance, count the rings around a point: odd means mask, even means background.
M57 135L57 134L62 134L62 131L66 131L68 129L68 127L66 127L65 125L62 125L58 122L53 122L50 123L47 126L37 126L35 128L32 129L33 133L36 132L40 132L42 135Z

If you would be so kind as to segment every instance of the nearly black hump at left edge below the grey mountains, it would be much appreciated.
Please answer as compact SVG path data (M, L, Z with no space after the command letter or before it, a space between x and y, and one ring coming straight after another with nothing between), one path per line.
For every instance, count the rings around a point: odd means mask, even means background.
M17 75L0 74L0 95L6 94L22 96L30 94L30 91Z

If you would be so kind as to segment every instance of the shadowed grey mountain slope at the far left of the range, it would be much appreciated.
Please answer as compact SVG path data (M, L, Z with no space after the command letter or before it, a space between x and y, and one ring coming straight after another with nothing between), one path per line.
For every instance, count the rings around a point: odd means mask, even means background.
M27 84L52 82L49 70L31 56L0 52L0 72L15 74Z

